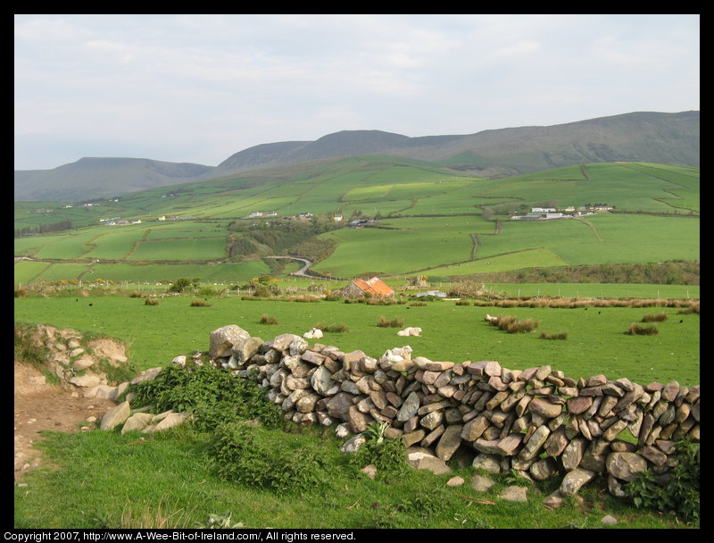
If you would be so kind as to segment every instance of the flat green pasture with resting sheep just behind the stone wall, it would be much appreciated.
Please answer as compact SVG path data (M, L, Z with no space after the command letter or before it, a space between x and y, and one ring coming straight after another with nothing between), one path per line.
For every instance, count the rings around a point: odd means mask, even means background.
M678 380L691 386L700 382L699 315L679 314L676 308L498 308L444 300L427 306L364 305L237 297L210 299L211 307L190 307L191 299L161 298L159 305L150 306L142 298L120 296L80 297L78 302L74 297L16 298L14 318L115 336L129 344L132 362L142 369L169 363L176 355L208 350L210 332L227 324L237 324L267 340L286 332L302 336L319 322L344 322L347 332L326 332L320 342L345 352L360 349L374 357L408 344L413 356L432 360L496 360L519 370L549 364L574 379L604 373L610 379L627 377L643 384ZM657 323L658 335L624 333L645 314L661 312L668 314L668 320ZM540 325L531 333L509 334L489 326L484 321L486 313L511 314ZM263 314L275 317L279 324L261 324ZM395 329L380 328L380 316L402 320L405 327L419 327L422 337L401 338ZM567 332L568 338L542 339L540 331Z

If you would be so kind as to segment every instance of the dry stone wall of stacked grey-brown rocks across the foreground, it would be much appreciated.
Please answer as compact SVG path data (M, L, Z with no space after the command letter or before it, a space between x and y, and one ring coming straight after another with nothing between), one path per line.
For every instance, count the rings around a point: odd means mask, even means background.
M562 476L566 496L598 475L623 496L622 483L637 472L668 471L677 439L700 436L700 387L677 381L641 386L604 375L572 379L549 365L432 361L409 346L373 358L295 334L263 341L236 325L212 331L209 355L268 388L298 424L339 423L359 435L386 423L387 437L428 447L444 462L461 450L491 472ZM636 443L621 439L626 430Z

